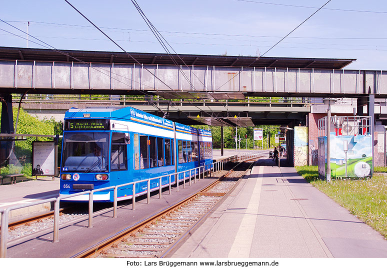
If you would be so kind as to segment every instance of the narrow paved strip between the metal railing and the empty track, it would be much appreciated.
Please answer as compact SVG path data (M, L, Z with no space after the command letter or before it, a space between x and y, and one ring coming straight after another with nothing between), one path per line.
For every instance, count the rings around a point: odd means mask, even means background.
M194 192L203 189L214 180L215 178L196 179L196 183L192 180L191 185L186 182L185 187L180 184L178 191L176 187L172 187L171 194L168 194L168 190L164 190L161 198L158 198L158 191L153 192L149 204L146 203L146 197L143 199L136 197L134 210L132 210L131 202L118 202L117 218L112 217L112 207L102 213L95 212L91 228L87 227L87 216L60 224L58 242L52 242L52 228L36 232L24 242L10 241L8 242L7 257L71 257L82 251L86 246L96 244L103 238L179 202ZM87 206L87 203L79 204L79 207L84 208L85 213Z

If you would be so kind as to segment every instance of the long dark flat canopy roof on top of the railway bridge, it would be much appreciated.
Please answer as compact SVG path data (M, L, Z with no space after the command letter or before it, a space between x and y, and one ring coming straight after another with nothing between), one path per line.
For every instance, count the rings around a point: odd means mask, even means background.
M66 53L69 56L63 54ZM337 58L291 58L291 57L257 57L257 56L223 56L165 53L129 52L142 64L177 64L181 65L215 65L215 66L251 66L281 68L315 68L341 69L356 59ZM77 61L100 63L136 63L125 52L84 51L84 50L53 50L41 48L4 47L0 46L0 59L36 60L36 61Z

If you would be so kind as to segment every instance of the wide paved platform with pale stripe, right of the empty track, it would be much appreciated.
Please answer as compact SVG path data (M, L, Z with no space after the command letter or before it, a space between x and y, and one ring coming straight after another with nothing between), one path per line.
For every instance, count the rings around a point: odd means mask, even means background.
M170 257L387 257L387 240L293 167L260 159Z

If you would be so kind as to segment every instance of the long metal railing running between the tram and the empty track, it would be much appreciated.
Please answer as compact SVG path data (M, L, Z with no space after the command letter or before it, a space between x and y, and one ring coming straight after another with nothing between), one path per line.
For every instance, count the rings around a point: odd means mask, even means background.
M171 177L172 175L176 175L176 189L177 191L179 190L179 182L183 182L183 188L185 188L185 180L186 178L189 178L189 185L191 185L191 178L193 176L194 182L196 183L196 175L198 176L198 180L200 181L200 176L204 179L204 174L207 173L210 175L211 172L214 174L215 172L221 171L224 168L224 163L225 162L237 162L240 160L245 160L249 158L256 157L258 152L250 152L250 153L243 153L243 154L237 154L233 155L230 157L227 157L225 159L211 162L209 164L201 165L195 168L187 169L187 170L182 170L179 172L174 172L171 174L165 174L165 175L160 175L152 178L147 178L147 179L142 179L138 181L132 181L129 183L124 183L124 184L119 184L115 186L108 186L108 187L103 187L103 188L98 188L98 189L93 189L93 190L87 190L87 191L81 191L69 195L61 195L58 197L52 197L49 199L44 199L40 201L36 201L33 203L27 203L27 204L18 204L18 205L13 205L9 206L5 209L1 208L0 209L0 214L1 214L1 234L0 234L0 258L6 257L6 244L7 244L7 237L8 237L8 214L11 210L14 209L19 209L19 208L24 208L32 205L37 205L41 203L46 203L46 202L54 202L54 218L53 218L53 237L52 237L52 242L58 242L59 241L59 202L60 200L71 198L74 196L78 195L83 195L83 194L88 194L88 225L87 227L92 227L92 217L93 217L93 193L97 191L103 191L107 189L113 189L113 218L117 217L117 191L119 187L123 186L128 186L128 185L133 185L132 189L132 209L135 209L135 197L136 195L139 195L135 192L135 184L147 181L147 187L146 187L146 199L147 203L150 203L150 192L155 191L158 189L158 198L161 198L161 190L163 187L168 186L169 187L169 194L171 194ZM186 177L186 173L189 172L189 176ZM193 174L192 174L193 172ZM179 178L179 174L183 173L183 177ZM163 177L169 177L168 178L168 183L163 184L161 183ZM155 180L159 179L159 184L158 187L154 187L150 189L150 180ZM141 194L142 195L142 194Z

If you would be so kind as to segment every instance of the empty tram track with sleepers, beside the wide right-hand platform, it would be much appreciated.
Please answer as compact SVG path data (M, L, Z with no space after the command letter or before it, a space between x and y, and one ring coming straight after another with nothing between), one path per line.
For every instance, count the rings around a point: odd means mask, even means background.
M72 257L164 257L220 204L260 157L238 163L199 192ZM238 170L241 165L244 170Z

